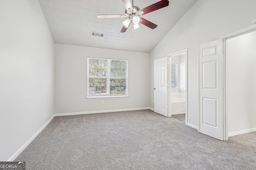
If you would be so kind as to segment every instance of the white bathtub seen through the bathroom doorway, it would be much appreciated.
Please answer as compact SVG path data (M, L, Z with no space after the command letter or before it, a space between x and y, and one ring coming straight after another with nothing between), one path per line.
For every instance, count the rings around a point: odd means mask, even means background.
M172 98L171 106L172 115L186 113L186 98Z

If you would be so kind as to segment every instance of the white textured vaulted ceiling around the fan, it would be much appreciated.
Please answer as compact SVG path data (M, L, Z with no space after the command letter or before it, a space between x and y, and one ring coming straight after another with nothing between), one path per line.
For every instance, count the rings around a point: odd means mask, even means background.
M160 0L134 0L140 9ZM122 0L38 0L55 43L150 53L197 0L169 0L169 6L145 14L158 27L120 33L126 18L100 19L97 15L124 14ZM91 36L91 31L104 37Z

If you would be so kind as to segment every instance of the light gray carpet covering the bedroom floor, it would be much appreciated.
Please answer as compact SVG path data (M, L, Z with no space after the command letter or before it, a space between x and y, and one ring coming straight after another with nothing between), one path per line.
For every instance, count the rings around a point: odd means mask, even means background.
M255 170L256 133L250 140L219 141L151 110L75 115L55 117L15 161L27 170Z

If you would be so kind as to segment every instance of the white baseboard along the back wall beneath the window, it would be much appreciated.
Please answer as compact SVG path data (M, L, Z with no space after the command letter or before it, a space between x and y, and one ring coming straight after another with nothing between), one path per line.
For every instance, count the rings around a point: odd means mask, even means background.
M108 112L117 112L117 111L146 110L146 109L150 109L150 108L151 107L141 107L141 108L132 108L132 109L115 109L115 110L100 110L100 111L84 111L84 112L74 112L74 113L57 113L57 114L55 114L55 117L94 114L94 113L108 113Z

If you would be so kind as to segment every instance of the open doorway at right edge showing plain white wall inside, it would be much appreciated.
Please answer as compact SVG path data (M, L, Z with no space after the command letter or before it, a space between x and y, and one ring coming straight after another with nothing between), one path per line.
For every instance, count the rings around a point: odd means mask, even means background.
M256 131L256 31L226 39L228 137Z

